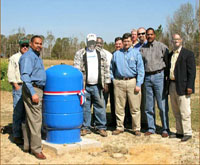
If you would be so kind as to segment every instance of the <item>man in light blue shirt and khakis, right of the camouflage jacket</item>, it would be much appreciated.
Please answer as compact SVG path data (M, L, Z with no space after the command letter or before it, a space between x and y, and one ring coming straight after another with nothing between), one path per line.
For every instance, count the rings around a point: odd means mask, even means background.
M111 79L114 83L115 110L117 128L113 135L124 132L124 108L128 98L132 116L132 129L136 136L140 136L140 104L141 85L144 80L144 66L140 52L131 47L131 34L122 37L123 49L113 54L111 61Z

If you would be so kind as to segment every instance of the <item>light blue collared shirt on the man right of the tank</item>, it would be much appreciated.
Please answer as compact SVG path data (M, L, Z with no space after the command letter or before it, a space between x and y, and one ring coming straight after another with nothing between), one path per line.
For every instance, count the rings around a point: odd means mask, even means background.
M111 60L111 79L136 77L136 86L140 87L144 80L144 65L140 52L130 47L127 51L120 49L113 54Z

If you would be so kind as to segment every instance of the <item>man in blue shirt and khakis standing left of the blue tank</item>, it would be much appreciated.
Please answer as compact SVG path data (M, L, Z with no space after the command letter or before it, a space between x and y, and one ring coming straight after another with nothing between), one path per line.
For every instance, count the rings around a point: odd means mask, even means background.
M46 83L46 73L40 56L42 38L33 36L30 49L19 60L21 80L23 81L22 96L26 109L26 124L23 126L24 151L38 159L46 159L42 153L42 97Z

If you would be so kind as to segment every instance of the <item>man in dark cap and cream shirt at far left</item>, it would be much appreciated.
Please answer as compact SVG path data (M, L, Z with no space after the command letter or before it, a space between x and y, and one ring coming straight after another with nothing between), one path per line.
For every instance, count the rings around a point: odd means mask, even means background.
M22 140L22 122L25 119L25 109L22 99L22 80L19 72L19 59L22 54L26 53L29 48L29 40L25 37L19 40L19 52L9 58L8 63L8 81L13 88L13 124L12 131L14 142L16 144L24 144Z

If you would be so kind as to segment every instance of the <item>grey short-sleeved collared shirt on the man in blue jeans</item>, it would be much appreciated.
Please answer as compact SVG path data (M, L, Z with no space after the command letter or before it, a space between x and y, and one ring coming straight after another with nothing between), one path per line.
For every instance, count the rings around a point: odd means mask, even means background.
M169 50L163 43L154 40L150 44L143 45L140 52L143 57L145 72L154 72L166 67L165 58L167 58Z

